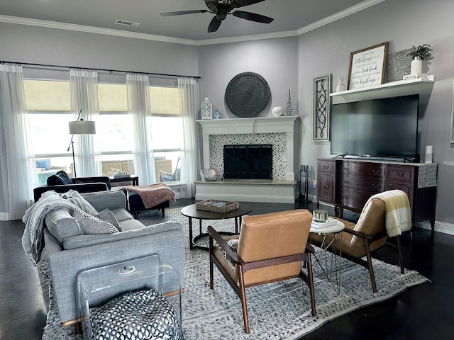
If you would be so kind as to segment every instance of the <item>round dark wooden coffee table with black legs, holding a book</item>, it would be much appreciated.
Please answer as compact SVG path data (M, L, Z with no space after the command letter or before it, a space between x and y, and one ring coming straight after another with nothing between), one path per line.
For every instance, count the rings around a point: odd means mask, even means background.
M208 247L199 246L198 244L196 244L196 241L198 239L208 236L208 233L201 232L201 221L202 220L227 220L228 218L234 218L235 219L235 233L219 232L219 234L226 234L226 235L238 234L238 232L239 232L238 221L240 220L240 217L248 214L251 211L252 211L252 209L250 208L250 206L247 204L243 204L243 203L240 203L240 208L229 211L229 212L225 212L225 213L199 210L199 209L196 209L195 204L187 205L186 207L182 208L182 210L181 210L182 215L189 217L189 249L192 250L192 249L196 248L196 249L208 250ZM196 220L199 220L199 234L194 238L192 237L192 219L193 218L195 218Z

